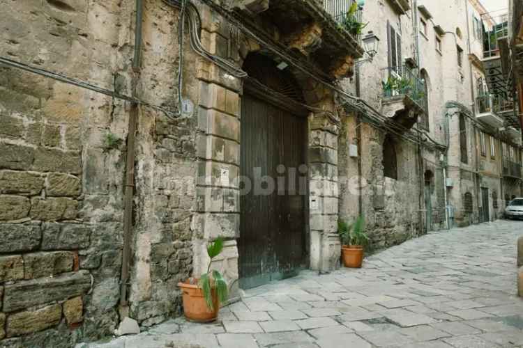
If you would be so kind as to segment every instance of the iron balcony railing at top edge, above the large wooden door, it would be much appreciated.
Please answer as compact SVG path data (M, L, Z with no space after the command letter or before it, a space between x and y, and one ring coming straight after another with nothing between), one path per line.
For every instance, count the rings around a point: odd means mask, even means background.
M351 11L352 6L356 10ZM367 24L363 23L363 8L357 5L356 0L324 0L324 9L361 45L361 34Z

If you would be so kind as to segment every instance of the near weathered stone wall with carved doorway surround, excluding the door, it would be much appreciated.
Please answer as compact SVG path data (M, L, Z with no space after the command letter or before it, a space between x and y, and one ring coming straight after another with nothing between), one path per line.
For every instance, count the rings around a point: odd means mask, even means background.
M212 267L225 274L232 301L238 296L243 81L204 56L227 59L238 69L249 54L278 56L223 17L234 13L227 4L211 5L191 1L185 8L187 18L198 13L201 28L189 20L181 25L179 1L4 6L2 347L70 347L111 335L126 315L144 327L179 315L176 284L206 269L206 244L218 236L225 237L225 250ZM340 258L340 116L333 91L303 67L335 81L352 74L363 49L321 2L234 5L271 33L262 42L292 47L283 52L298 61L288 71L308 105L301 121L308 129L304 205L312 202L302 208L300 267L333 269ZM229 10L220 12L224 8ZM292 16L293 26L272 24L266 17L271 11ZM138 13L141 40L135 45ZM190 49L195 34L203 56ZM124 228L128 206L130 234ZM126 262L127 280L121 271Z

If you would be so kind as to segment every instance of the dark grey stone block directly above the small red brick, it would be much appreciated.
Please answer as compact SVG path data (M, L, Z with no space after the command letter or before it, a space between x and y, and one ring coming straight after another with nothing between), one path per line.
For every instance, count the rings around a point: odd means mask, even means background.
M43 250L77 250L89 247L92 228L78 223L45 223Z

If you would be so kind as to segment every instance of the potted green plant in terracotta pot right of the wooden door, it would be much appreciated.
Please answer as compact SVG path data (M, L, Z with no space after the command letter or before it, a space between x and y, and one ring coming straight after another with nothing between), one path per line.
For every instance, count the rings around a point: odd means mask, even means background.
M342 240L342 258L345 267L361 268L363 262L363 248L369 237L363 232L365 220L363 216L350 225L345 221L338 221L338 233Z

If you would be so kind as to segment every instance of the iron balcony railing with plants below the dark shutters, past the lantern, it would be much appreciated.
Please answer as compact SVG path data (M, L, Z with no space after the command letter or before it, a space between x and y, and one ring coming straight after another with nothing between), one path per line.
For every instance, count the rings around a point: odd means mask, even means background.
M417 71L407 65L388 67L384 70L386 70L386 80L382 81L384 97L407 95L426 113L428 105L425 81L420 79Z

